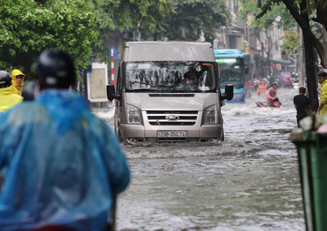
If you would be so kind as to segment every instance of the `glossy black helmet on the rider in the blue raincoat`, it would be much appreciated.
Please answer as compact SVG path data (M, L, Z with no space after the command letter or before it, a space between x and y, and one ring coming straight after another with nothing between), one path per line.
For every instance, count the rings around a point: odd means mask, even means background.
M58 49L41 53L36 75L50 88L68 88L76 82L75 66L72 58Z

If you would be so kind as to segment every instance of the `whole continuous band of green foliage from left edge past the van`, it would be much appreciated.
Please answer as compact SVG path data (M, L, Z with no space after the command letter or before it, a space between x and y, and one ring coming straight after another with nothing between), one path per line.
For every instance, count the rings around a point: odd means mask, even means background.
M114 31L196 40L202 31L214 36L228 18L222 0L1 0L0 69L31 75L42 50L53 47L84 69L91 55L109 62Z

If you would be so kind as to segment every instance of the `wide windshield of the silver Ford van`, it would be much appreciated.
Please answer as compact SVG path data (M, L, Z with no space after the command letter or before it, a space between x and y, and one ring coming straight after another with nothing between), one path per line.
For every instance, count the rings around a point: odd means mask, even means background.
M125 67L126 91L205 92L216 89L211 62L126 62Z

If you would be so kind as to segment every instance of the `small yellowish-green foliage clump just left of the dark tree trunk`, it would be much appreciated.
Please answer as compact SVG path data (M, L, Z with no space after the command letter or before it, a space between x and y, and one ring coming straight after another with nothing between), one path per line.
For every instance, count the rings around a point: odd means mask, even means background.
M279 38L279 40L283 40L284 43L282 45L281 53L285 54L296 54L300 48L300 35L294 31L286 31L284 36Z

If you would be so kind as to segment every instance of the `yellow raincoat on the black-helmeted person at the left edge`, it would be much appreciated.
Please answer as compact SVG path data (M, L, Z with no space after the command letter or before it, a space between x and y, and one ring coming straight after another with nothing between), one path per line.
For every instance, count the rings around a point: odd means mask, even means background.
M0 112L11 109L22 101L23 97L14 93L14 87L0 88Z

